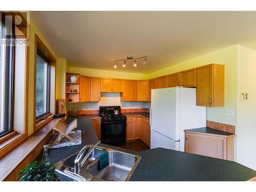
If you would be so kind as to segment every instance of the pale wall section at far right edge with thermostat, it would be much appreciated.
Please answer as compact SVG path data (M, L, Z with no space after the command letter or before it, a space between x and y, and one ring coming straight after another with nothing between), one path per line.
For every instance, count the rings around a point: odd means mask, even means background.
M237 61L237 162L256 170L256 51L238 46Z

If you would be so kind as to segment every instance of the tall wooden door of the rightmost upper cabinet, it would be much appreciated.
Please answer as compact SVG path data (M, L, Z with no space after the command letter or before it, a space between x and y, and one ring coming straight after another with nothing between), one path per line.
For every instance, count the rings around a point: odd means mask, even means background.
M212 106L212 65L197 68L197 105Z

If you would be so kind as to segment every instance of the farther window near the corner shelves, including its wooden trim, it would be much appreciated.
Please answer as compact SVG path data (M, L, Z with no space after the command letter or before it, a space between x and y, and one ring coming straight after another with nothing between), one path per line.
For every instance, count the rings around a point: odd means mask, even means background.
M34 132L55 114L56 59L35 34Z

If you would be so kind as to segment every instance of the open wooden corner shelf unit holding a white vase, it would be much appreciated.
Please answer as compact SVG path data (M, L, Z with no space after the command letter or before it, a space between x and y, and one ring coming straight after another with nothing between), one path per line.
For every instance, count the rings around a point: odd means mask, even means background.
M72 75L75 75L77 77L76 82L71 82L70 77ZM80 93L80 75L75 73L66 73L66 102L72 102L72 103L79 102L79 93ZM69 99L71 99L72 101L69 101Z

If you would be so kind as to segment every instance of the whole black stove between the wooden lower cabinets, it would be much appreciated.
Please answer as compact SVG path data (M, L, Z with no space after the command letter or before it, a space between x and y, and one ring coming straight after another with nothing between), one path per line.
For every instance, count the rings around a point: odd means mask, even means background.
M114 111L121 111L120 106L100 106L99 115L101 116L101 143L119 146L126 141L126 116L123 114L115 115Z

